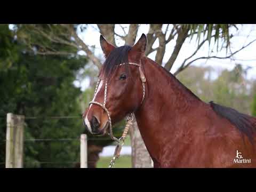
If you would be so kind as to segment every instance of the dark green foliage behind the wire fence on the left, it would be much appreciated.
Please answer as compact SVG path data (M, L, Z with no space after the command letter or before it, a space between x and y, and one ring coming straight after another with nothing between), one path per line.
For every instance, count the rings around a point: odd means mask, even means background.
M12 31L7 25L0 26L0 42L4 42L1 49L5 51L5 53L1 51L0 58L0 162L5 161L3 141L7 113L38 117L26 119L26 140L77 138L66 143L26 141L25 167L61 167L64 165L57 164L58 162L78 161L78 138L84 128L79 118L81 109L77 102L81 91L73 82L77 71L86 65L87 59L78 55L46 57L29 54L22 44L14 40ZM62 46L58 49L62 50ZM78 116L78 118L50 119L49 116Z

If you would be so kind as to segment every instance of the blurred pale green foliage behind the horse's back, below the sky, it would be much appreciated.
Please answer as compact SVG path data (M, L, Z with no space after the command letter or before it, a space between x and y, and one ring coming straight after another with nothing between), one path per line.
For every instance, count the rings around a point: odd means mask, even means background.
M214 101L250 115L252 98L255 94L252 87L256 81L245 79L245 72L241 65L237 65L231 71L221 70L218 78L212 80L212 74L217 71L210 67L190 66L178 74L178 78L201 100Z

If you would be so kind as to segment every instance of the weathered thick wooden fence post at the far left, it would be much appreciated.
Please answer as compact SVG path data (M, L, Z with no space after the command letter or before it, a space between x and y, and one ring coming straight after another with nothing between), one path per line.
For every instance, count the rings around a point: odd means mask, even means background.
M25 116L7 114L6 118L6 168L23 167L24 123Z

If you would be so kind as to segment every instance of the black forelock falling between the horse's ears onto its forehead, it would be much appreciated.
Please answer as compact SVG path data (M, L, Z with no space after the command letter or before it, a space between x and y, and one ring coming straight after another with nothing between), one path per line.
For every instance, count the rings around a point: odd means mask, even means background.
M108 77L116 66L121 63L128 63L128 52L132 49L129 45L124 45L121 47L116 47L113 51L110 52L106 61L103 63L102 72ZM127 68L127 65L125 65Z

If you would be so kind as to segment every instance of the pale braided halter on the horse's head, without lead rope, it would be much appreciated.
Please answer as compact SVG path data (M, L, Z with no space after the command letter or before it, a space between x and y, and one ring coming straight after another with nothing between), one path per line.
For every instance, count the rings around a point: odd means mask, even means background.
M146 77L145 77L145 75L143 74L142 69L141 69L141 66L140 66L139 64L133 63L133 62L129 62L128 64L129 64L129 65L133 65L133 66L139 67L140 79L141 79L142 87L143 87L143 96L142 96L142 101L141 101L141 104L142 104L143 100L145 99L145 83L146 83ZM119 66L122 66L122 65L125 65L125 63L121 63ZM94 95L96 94L96 92L97 92L97 90L98 90L99 83L100 83L100 79L99 79L98 82L97 82ZM103 102L103 104L101 104L101 103L99 103L99 102L97 102L97 101L90 101L90 102L89 102L89 106L90 106L91 104L98 105L98 106L100 106L103 110L106 111L107 116L108 116L108 122L109 122L109 129L110 129L109 135L110 135L110 138L113 139L114 141L117 141L117 142L118 142L121 138L120 138L120 139L117 139L116 137L114 137L113 131L112 131L112 123L111 123L110 113L109 113L109 110L108 110L108 109L106 108L106 106L105 106L105 105L106 105L106 101L107 101L107 86L108 86L108 82L106 81L106 83L105 83L105 92L104 92L104 102Z

